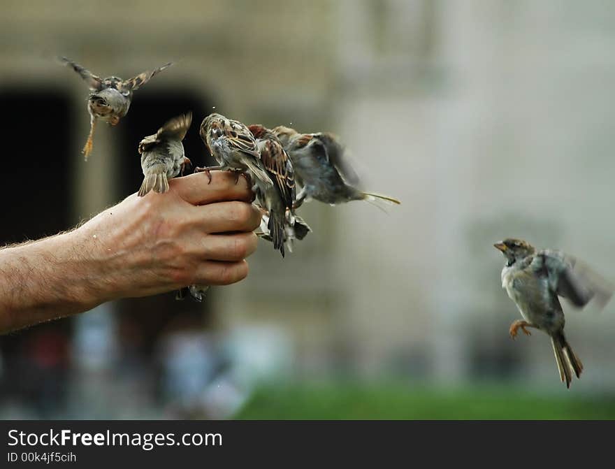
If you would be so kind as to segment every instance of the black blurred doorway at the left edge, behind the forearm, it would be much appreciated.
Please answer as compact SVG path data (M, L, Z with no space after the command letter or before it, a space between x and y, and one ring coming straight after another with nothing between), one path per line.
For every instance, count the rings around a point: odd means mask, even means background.
M71 101L60 89L5 87L2 129L0 245L37 239L70 228ZM66 395L71 320L0 336L0 394L31 403L41 416Z

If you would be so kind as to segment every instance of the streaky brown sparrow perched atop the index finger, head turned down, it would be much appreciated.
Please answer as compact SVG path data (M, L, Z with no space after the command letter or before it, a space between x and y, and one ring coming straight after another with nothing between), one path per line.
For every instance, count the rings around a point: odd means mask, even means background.
M212 113L201 122L199 134L219 166L194 168L194 171L207 173L210 183L210 171L219 169L236 171L237 179L240 173L249 171L257 180L266 185L273 185L273 181L263 168L256 140L245 124Z

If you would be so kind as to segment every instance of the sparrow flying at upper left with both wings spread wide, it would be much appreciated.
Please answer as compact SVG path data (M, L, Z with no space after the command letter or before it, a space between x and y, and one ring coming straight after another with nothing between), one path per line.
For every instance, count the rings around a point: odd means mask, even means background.
M97 120L100 119L111 125L117 125L120 119L128 113L133 91L139 89L141 85L147 83L157 73L173 65L172 62L169 62L159 68L154 68L154 70L140 73L129 80L122 80L122 78L116 76L99 78L91 71L86 70L79 64L75 64L75 62L66 57L59 57L59 62L70 66L75 72L79 73L92 91L87 100L90 129L89 136L83 147L86 161L92 152L92 138L94 138Z

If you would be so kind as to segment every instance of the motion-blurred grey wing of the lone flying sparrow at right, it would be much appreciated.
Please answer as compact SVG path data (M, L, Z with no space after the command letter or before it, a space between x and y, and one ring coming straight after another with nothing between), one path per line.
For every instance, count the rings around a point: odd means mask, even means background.
M534 270L547 275L549 288L567 298L577 308L592 298L603 308L611 298L614 287L584 262L561 251L542 250L532 263Z

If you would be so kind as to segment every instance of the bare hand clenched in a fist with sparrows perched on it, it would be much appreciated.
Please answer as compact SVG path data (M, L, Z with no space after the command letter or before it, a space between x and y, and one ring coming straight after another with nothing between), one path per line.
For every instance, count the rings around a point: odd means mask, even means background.
M245 178L227 171L169 181L166 194L132 194L68 233L89 253L94 304L189 284L243 280L261 213Z

